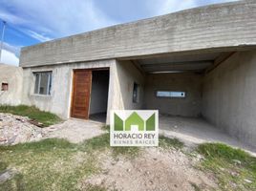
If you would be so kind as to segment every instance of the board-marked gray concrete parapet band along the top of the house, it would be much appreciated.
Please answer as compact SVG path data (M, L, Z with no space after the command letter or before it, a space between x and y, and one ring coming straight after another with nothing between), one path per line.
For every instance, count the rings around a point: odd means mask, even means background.
M255 0L212 5L53 40L23 48L20 66L256 45L255 7Z

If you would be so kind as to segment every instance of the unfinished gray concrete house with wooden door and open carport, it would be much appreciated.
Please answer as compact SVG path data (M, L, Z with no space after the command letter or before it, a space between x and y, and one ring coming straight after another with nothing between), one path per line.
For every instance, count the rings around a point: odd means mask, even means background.
M253 0L85 32L22 49L21 100L106 123L113 109L200 117L256 145L255 47Z

